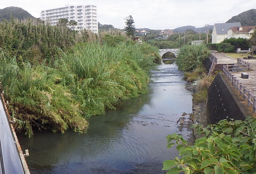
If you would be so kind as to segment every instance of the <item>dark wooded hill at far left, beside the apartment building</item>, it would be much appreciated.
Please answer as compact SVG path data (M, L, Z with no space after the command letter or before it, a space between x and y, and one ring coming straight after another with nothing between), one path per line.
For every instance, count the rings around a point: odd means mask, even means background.
M11 16L17 19L34 18L29 12L20 7L6 7L2 10L0 9L0 21L4 19L10 20Z

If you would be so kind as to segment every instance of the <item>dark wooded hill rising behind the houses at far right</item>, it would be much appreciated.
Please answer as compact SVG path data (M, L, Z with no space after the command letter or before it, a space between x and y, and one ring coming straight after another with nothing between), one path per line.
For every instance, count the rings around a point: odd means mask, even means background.
M256 9L244 11L237 16L233 16L228 22L241 22L242 26L256 25Z

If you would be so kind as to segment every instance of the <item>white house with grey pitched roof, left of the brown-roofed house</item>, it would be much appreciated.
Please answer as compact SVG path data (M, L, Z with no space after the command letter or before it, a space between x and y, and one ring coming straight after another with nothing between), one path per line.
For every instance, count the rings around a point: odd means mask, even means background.
M240 22L232 23L218 23L214 24L212 34L211 34L211 43L220 43L227 38L227 31L232 27L240 27Z

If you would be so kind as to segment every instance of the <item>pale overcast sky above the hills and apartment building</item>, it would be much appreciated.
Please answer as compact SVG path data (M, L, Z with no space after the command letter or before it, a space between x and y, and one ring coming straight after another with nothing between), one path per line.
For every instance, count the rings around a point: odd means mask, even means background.
M41 10L72 5L96 5L98 22L125 27L132 15L136 28L175 29L225 23L232 16L256 8L256 0L1 0L0 9L21 7L39 18Z

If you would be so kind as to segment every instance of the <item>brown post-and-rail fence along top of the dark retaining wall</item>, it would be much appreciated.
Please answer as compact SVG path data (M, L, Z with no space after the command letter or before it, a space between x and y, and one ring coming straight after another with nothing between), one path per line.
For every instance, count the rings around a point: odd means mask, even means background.
M227 77L236 91L239 92L241 96L243 96L243 101L247 101L247 106L252 106L252 113L256 113L256 95L254 95L251 90L248 90L247 87L244 86L243 83L241 83L234 74L232 74L228 67L229 65L223 66L224 76Z

